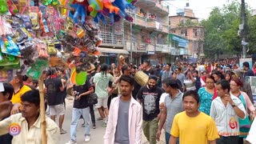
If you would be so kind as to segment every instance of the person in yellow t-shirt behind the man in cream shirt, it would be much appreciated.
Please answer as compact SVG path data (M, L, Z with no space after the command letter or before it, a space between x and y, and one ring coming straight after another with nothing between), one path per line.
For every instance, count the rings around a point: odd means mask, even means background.
M31 90L29 86L23 85L22 78L22 74L17 74L10 81L10 84L14 86L14 95L10 100L10 102L12 103L21 104L22 95L25 94L27 91Z

